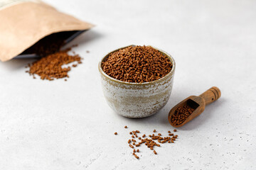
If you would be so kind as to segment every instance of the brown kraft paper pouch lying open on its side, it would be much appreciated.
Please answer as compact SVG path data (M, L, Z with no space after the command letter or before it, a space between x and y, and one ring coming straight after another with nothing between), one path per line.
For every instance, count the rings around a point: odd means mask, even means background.
M1 0L0 21L2 62L11 60L52 33L73 31L70 35L72 39L82 31L92 28L92 24L60 13L38 0Z

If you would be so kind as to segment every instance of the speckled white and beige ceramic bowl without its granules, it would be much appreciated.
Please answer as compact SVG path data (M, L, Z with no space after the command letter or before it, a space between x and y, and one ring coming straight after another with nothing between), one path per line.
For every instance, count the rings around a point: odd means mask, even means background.
M154 47L154 49L156 48ZM171 55L162 50L159 51L169 57L173 68L165 77L146 83L129 83L108 76L102 70L102 61L104 61L111 52L102 58L98 66L101 75L102 89L107 103L114 112L127 118L144 118L149 115L154 115L166 105L171 96L171 89L174 84L176 64Z

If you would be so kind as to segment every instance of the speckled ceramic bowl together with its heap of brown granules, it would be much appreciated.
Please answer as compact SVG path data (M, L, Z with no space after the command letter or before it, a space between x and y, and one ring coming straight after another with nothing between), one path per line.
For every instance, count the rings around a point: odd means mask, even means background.
M114 50L99 64L107 103L119 115L144 118L163 108L171 95L175 62L151 46Z

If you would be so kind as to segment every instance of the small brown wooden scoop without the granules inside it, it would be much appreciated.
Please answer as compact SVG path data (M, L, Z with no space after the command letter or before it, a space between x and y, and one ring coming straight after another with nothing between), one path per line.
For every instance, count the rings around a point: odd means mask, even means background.
M174 106L174 108L171 109L171 111L169 112L169 115L168 115L169 123L176 128L185 125L190 120L192 120L193 118L196 118L196 116L200 115L206 108L206 105L213 103L213 101L216 101L218 98L220 98L220 89L218 89L218 87L215 87L215 86L208 89L200 96L189 96L188 98L181 101L176 106ZM195 110L193 111L193 113L191 113L191 115L188 116L188 118L183 123L181 123L179 125L174 125L171 122L171 116L174 115L174 113L178 107L185 106L186 104Z

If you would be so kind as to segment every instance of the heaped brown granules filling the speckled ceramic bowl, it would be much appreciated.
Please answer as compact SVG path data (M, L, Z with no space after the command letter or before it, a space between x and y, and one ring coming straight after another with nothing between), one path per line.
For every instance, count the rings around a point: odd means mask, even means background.
M166 76L172 69L169 57L150 46L129 46L110 53L102 69L114 79L144 83Z

